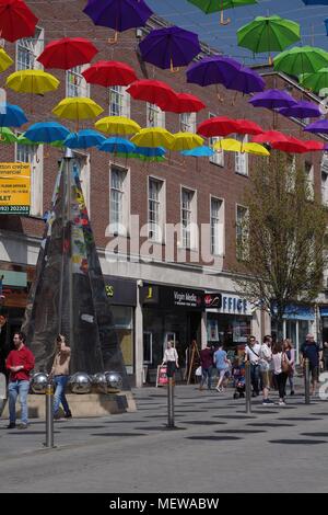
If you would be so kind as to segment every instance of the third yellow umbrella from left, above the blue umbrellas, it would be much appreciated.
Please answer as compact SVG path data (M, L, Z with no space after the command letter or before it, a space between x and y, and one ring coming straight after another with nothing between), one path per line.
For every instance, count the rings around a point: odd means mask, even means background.
M93 100L83 96L63 99L54 107L52 113L59 118L92 119L103 113L103 107Z

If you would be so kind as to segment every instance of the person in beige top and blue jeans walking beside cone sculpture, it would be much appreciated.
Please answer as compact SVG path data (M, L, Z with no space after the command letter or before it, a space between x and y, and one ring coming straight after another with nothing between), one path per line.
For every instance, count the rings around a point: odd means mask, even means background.
M55 396L54 396L54 419L60 419L59 408L60 404L65 411L65 419L71 419L72 413L69 408L65 389L70 378L70 359L71 359L71 350L68 346L65 336L58 334L56 339L56 355L51 371L49 374L49 379L54 379L55 384Z

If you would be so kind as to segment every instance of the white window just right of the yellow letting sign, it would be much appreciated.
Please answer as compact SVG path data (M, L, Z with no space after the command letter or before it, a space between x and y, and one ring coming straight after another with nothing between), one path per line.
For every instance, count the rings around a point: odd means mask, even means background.
M43 146L16 145L16 162L31 164L31 209L32 216L43 216Z

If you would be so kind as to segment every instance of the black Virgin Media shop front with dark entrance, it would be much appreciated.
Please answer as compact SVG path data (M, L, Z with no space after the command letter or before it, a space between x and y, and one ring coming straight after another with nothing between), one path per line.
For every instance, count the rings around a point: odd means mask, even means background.
M167 342L174 342L181 378L187 350L196 340L201 348L203 291L148 284L141 290L143 314L143 366L148 382L155 382Z

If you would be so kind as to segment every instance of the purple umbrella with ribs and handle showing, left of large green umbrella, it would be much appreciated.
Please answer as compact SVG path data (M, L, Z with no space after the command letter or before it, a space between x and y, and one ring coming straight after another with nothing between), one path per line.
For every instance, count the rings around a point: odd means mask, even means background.
M174 67L189 65L201 50L198 35L178 26L152 31L139 48L143 60L172 71Z

